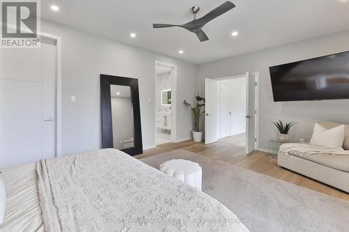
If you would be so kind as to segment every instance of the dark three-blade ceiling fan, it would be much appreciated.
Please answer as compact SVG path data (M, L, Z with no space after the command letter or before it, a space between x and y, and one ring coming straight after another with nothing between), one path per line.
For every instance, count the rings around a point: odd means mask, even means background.
M211 12L207 13L207 15L200 17L200 19L196 19L196 14L199 12L200 7L193 6L191 8L191 13L194 15L194 20L191 22L188 22L186 24L181 25L174 25L174 24L153 24L153 28L164 28L164 27L172 27L172 26L179 26L181 28L187 29L188 31L191 31L195 33L199 40L201 42L204 42L206 40L209 40L209 38L206 36L205 32L202 31L202 26L205 26L208 22L211 20L214 20L216 17L223 15L228 10L231 10L232 8L235 8L235 5L231 3L230 1L225 1L221 6L218 6L214 10L211 10Z

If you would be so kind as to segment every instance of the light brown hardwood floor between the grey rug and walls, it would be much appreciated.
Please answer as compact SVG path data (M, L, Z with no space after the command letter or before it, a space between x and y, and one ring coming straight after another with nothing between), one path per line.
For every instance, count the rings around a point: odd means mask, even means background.
M249 169L258 173L265 174L280 180L285 180L295 185L309 188L318 192L322 192L329 196L335 196L340 199L349 201L349 194L338 190L329 185L325 185L306 176L302 176L298 173L283 169L277 165L276 157L269 157L267 153L262 151L254 151L253 153L246 155L245 148L241 146L235 146L218 141L214 144L205 145L202 143L195 143L194 141L183 141L180 143L161 144L156 148L144 151L144 154L135 156L140 159L142 157L149 157L151 155L158 155L168 152L170 150L184 149L205 155L213 160L220 160L222 162L236 165Z

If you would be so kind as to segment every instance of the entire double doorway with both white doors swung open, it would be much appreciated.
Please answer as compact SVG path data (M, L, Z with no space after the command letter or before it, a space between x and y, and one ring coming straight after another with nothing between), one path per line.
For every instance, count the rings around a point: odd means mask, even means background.
M205 79L205 144L258 147L258 73Z

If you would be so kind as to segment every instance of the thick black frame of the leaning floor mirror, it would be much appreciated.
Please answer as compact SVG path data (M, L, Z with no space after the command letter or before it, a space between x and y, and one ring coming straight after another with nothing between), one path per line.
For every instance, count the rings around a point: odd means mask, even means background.
M114 148L112 135L112 105L110 85L130 86L131 102L133 107L134 147L123 149L128 155L139 155L143 153L142 127L140 125L140 94L138 91L138 79L128 77L117 77L112 75L100 75L101 79L101 110L102 110L102 146L103 148Z

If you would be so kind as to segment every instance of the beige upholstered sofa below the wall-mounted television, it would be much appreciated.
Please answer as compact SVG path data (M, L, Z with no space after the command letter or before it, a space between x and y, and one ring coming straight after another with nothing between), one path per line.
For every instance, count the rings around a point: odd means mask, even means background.
M320 123L331 129L339 123ZM346 125L344 150L349 150L349 125ZM278 165L327 185L349 192L349 155L299 155L288 153L278 155Z

